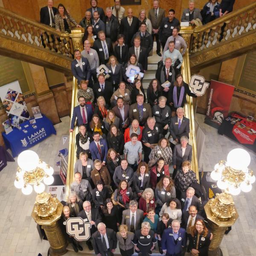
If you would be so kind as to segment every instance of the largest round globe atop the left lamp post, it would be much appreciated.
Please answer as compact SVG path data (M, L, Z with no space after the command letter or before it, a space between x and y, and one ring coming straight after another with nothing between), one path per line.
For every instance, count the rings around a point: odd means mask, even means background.
M25 150L19 154L17 162L20 169L24 170L25 172L29 172L38 166L39 157L34 151Z

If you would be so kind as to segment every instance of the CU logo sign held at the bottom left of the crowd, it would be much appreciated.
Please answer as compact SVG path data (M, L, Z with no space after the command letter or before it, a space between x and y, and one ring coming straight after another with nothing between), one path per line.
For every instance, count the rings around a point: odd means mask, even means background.
M70 236L74 236L77 241L84 241L90 238L89 222L84 222L81 217L68 218L66 221L67 233Z

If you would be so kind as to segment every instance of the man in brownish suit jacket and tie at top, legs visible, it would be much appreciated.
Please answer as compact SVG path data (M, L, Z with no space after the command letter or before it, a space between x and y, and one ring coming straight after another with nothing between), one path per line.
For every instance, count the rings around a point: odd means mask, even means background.
M154 42L155 38L157 42L157 55L161 57L162 55L160 53L161 45L159 40L159 29L165 16L165 10L159 8L159 0L153 1L153 7L154 8L150 9L148 12L148 19L151 21L152 24L152 40Z

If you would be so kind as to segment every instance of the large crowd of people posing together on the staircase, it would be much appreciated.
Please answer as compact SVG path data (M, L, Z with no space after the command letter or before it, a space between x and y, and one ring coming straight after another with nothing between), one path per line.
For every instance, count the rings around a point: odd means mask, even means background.
M233 2L209 0L200 11L189 0L181 20L174 9L165 17L158 0L139 17L131 8L125 16L119 0L105 12L90 0L79 23L52 0L41 9L41 22L58 31L69 31L71 23L85 29L84 50L74 51L71 64L80 86L70 126L70 132L79 126L78 160L62 218L90 222L87 245L96 255L113 255L118 241L122 256L148 256L156 243L160 253L181 256L189 239L191 255L207 256L212 235L191 170L190 120L183 109L186 95L198 95L180 73L187 45L179 27L180 21L207 23L226 15ZM134 65L145 73L154 40L157 55L163 49L163 63L144 91L143 77L127 76L126 70ZM100 64L108 67L107 79L96 72ZM83 250L67 238L76 252Z

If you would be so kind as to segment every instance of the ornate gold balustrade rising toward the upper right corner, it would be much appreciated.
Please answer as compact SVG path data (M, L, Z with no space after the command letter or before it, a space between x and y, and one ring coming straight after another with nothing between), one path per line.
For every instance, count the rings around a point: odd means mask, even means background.
M190 67L196 70L255 48L255 23L256 2L196 27L189 44Z

